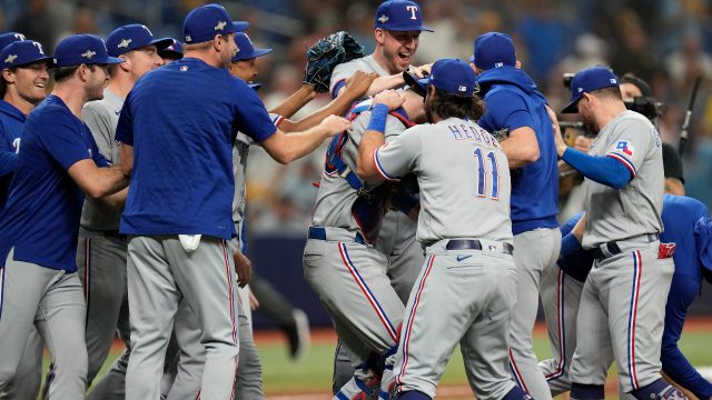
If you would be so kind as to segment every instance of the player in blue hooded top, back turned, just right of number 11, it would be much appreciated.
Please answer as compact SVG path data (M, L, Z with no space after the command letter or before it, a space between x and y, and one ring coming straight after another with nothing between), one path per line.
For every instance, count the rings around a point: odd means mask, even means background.
M513 170L512 231L517 282L510 330L510 369L535 399L551 399L532 341L540 290L545 308L554 300L551 287L542 283L545 276L553 273L561 247L556 221L558 168L546 99L520 69L508 34L487 32L478 37L472 62L486 106L478 123L505 137L502 148Z

